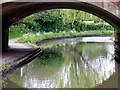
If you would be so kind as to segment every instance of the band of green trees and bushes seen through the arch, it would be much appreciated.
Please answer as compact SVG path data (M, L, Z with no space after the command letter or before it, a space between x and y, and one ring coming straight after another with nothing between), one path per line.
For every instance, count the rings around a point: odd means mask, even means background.
M95 23L84 23L83 21L94 21ZM28 32L33 34L38 32L53 32L53 36L58 36L60 32L66 31L69 32L70 35L73 35L71 30L77 32L91 30L113 31L114 28L106 24L102 19L83 11L52 9L33 14L15 23L9 28L9 39L22 37L23 34L27 34ZM63 34L64 33L62 33L62 35ZM44 34L43 36L49 37L48 34ZM28 39L30 42L34 37L29 36Z

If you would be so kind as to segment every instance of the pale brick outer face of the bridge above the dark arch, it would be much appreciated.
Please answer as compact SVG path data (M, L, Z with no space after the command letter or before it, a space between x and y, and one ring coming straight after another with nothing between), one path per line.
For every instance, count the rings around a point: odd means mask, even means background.
M0 4L7 2L88 2L120 17L120 0L2 0Z

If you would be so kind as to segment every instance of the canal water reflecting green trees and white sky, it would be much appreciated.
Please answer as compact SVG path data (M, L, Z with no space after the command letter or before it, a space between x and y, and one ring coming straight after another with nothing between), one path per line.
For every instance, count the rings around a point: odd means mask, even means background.
M94 88L115 75L111 37L44 43L41 54L2 80L4 88Z

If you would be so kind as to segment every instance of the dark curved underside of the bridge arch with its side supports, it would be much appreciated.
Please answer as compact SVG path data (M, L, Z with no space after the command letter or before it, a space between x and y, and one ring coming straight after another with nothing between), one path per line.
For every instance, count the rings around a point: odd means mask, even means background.
M120 60L120 18L112 13L85 2L11 2L2 5L2 49L8 48L8 28L31 14L48 9L77 9L94 14L115 28L116 59Z

